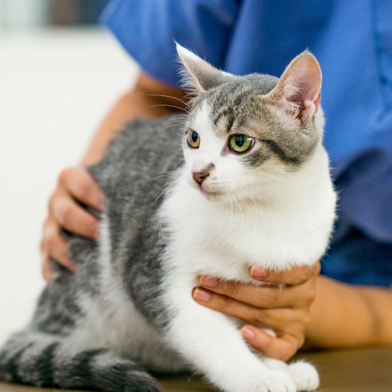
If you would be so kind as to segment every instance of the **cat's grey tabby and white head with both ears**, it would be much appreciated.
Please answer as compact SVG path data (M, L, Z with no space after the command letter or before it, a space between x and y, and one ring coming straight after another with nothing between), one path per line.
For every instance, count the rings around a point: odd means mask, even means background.
M189 182L209 199L254 198L301 170L322 137L321 71L308 51L280 78L220 71L177 44L192 94L183 141Z

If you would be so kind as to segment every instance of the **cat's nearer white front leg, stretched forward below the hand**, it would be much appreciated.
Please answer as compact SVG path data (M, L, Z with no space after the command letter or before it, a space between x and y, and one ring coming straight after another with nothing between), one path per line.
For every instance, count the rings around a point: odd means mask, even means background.
M287 371L270 370L251 353L233 321L194 302L188 290L187 296L176 294L183 301L173 313L167 337L192 368L225 392L296 391Z

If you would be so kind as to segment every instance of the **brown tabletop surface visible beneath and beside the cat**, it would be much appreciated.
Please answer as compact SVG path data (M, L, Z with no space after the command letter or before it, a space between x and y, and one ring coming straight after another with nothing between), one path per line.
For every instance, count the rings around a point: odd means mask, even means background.
M392 347L319 351L298 355L317 366L320 392L392 392ZM194 376L161 378L164 392L212 392ZM0 392L49 392L53 389L0 383Z

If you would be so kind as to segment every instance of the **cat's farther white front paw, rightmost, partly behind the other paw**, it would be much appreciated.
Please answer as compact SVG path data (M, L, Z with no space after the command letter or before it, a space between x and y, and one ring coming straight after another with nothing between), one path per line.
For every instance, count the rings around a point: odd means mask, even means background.
M293 377L297 392L315 391L319 388L319 373L316 368L304 361L286 364L283 361L268 357L262 358L263 363L270 369L283 369Z

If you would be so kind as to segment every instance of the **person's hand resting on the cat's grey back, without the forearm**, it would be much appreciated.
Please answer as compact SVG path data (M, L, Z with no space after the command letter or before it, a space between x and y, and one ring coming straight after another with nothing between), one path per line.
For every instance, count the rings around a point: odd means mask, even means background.
M75 271L67 246L60 235L62 228L83 237L98 237L99 221L84 210L80 203L101 211L103 193L86 169L65 169L60 173L57 187L49 198L49 216L44 223L41 252L42 273L46 281L51 278L50 258Z

